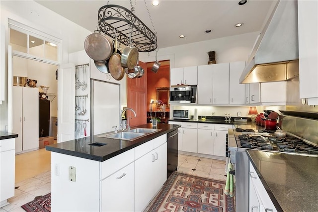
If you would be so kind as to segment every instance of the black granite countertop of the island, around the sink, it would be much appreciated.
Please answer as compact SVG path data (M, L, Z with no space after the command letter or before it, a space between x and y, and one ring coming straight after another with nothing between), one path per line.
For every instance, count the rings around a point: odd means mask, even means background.
M152 128L152 124L143 124L136 127ZM160 131L141 137L134 141L101 138L97 136L84 137L75 140L65 141L62 143L52 144L45 146L45 149L52 152L62 153L66 155L72 155L80 158L86 158L96 161L105 161L116 155L119 155L125 151L128 151L136 146L139 146L149 140L152 140L160 135L166 134L179 128L180 125L176 124L158 124L157 128ZM102 133L104 134L104 133ZM92 146L91 143L106 143L103 146Z

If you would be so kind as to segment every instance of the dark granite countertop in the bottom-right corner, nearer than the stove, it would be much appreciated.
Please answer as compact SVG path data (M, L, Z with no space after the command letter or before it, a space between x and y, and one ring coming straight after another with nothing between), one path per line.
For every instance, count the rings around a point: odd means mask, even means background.
M278 211L317 211L318 157L260 150L247 155Z

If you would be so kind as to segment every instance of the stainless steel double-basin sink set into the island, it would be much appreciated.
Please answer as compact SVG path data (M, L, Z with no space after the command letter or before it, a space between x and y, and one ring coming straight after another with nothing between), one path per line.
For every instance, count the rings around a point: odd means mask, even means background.
M133 141L143 136L158 132L160 130L161 129L134 128L134 129L130 129L127 131L122 131L122 132L105 133L105 134L97 135L97 137Z

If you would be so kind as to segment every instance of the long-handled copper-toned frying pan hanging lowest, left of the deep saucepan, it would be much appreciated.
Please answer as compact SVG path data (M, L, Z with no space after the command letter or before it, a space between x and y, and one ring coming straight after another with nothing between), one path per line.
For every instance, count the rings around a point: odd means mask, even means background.
M109 72L115 80L123 79L125 72L121 66L121 55L117 53L117 38L115 40L115 51L109 58Z

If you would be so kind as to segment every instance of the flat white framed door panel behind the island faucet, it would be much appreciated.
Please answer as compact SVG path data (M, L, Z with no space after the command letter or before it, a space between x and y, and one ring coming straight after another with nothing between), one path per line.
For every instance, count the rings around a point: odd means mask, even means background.
M91 80L92 84L92 130L93 135L119 129L120 89L118 84Z

